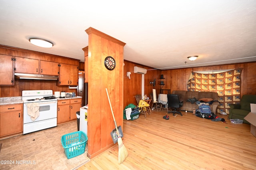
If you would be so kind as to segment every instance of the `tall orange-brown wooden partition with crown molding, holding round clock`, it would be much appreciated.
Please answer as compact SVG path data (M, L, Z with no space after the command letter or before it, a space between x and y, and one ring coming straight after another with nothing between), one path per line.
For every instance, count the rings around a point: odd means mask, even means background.
M110 132L115 128L115 125L106 88L116 123L123 128L123 51L126 43L91 27L85 31L89 36L87 156L93 158L114 146ZM110 71L104 66L104 59L107 56L114 57L116 61L114 70Z

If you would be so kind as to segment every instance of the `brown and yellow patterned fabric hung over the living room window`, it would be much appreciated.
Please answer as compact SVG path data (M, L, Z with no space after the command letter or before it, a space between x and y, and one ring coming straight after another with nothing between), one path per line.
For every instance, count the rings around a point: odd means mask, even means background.
M192 71L188 80L188 91L211 91L218 93L220 105L217 112L229 114L230 104L240 102L242 68L222 73L202 74Z

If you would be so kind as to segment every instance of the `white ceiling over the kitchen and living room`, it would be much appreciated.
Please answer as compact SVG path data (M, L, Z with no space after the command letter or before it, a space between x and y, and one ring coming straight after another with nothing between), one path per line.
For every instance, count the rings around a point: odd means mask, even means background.
M83 62L89 27L126 43L125 60L154 68L256 61L256 0L0 0L2 45Z

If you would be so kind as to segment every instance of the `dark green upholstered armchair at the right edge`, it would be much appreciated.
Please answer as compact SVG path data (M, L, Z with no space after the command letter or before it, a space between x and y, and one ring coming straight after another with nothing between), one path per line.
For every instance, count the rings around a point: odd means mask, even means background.
M250 103L256 103L256 95L243 95L240 104L231 104L228 119L240 119L243 123L250 124L244 119L251 111Z

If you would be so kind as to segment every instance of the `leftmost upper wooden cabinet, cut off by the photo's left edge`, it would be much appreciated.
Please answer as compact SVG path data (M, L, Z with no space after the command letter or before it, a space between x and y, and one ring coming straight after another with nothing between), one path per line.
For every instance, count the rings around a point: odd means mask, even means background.
M10 55L0 55L0 85L14 85L13 58Z

